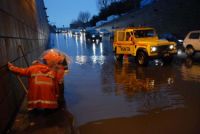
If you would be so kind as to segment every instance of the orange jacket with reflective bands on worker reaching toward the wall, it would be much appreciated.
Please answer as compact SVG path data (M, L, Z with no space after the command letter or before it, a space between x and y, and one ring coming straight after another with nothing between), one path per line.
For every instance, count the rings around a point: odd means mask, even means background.
M28 68L12 65L9 69L29 77L28 108L57 108L57 81L62 79L62 75L44 64L35 64Z

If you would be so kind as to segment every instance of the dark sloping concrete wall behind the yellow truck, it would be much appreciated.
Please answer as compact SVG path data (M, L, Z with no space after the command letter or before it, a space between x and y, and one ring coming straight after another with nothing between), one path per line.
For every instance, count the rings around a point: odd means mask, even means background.
M102 28L111 30L111 27L152 26L158 33L174 33L185 37L187 32L200 29L199 4L199 0L158 0Z

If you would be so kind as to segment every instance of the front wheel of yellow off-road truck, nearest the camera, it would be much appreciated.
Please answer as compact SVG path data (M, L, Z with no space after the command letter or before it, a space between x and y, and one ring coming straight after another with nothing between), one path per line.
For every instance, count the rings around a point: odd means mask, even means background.
M136 62L139 65L146 66L148 64L148 56L144 51L139 51L136 55Z

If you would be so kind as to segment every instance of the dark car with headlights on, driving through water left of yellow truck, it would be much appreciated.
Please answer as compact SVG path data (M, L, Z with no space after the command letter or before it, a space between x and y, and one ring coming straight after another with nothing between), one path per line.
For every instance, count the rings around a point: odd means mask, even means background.
M95 29L87 30L85 32L85 37L87 41L92 41L92 42L102 41L102 35Z

